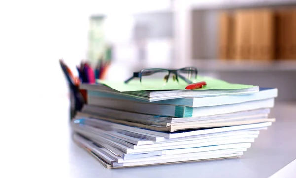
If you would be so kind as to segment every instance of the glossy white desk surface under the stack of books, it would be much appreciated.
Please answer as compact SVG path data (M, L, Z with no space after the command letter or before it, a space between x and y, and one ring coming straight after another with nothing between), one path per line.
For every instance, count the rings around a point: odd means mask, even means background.
M14 144L9 148L10 152L14 151L14 159L10 154L1 159L14 168L9 171L10 175L63 178L237 178L239 175L240 178L266 178L296 159L296 103L276 102L271 115L277 121L268 130L261 131L241 158L107 170L71 140L68 102L65 99L55 102L57 104L53 102L36 104L34 112L24 108L14 113L20 117L26 113L31 120L28 124L23 118L26 126L14 125L18 132L8 137L10 144ZM13 137L17 144L11 142Z

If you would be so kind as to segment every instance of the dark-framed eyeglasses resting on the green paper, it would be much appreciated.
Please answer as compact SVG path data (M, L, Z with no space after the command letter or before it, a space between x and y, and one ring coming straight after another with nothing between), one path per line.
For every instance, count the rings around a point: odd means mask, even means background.
M134 72L134 75L124 81L124 83L130 82L134 78L140 78L141 84L145 86L166 85L172 75L173 81L187 85L193 83L193 80L197 78L197 73L196 67L185 67L176 70L161 68L143 69L140 72Z

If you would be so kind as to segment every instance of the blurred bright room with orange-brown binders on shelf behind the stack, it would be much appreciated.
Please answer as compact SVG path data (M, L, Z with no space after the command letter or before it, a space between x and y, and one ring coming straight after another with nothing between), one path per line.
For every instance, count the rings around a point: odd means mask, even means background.
M66 98L58 59L77 75L81 60L95 65L108 52L106 79L195 66L229 82L277 87L278 100L296 99L296 0L0 3L2 89L16 98Z

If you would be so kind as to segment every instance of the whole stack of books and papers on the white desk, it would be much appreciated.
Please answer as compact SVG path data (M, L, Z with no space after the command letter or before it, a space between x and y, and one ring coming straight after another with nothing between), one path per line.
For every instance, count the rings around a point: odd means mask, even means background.
M275 121L277 89L204 79L190 91L83 84L88 103L71 122L73 139L107 168L239 157Z

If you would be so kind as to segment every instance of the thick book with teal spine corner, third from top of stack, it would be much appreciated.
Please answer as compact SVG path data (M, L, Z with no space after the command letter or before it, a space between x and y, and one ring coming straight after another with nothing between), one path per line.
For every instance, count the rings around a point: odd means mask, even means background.
M188 107L188 106L174 106L163 104L141 103L127 100L106 99L100 98L88 102L90 105L112 108L117 110L144 113L151 115L163 115L178 118L209 116L217 114L226 114L239 112L244 110L253 110L259 108L272 108L274 106L274 98L249 101L244 103L206 106L206 107Z

